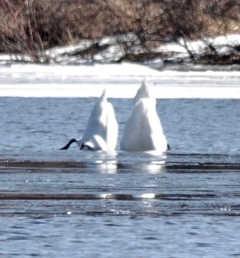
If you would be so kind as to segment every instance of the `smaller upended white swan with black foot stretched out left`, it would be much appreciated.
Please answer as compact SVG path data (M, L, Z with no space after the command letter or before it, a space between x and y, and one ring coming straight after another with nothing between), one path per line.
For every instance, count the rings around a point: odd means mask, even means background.
M114 109L111 103L107 102L106 90L103 90L101 97L93 106L82 138L70 140L60 150L67 150L73 142L76 142L80 150L113 151L117 142L117 134L118 125Z

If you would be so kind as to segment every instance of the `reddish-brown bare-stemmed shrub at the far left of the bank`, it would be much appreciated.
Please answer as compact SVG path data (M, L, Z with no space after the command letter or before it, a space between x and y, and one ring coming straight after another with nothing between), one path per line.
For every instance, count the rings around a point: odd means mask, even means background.
M21 60L38 62L48 61L44 54L44 45L37 31L35 6L26 0L22 6L13 1L0 2L0 40L3 51L17 54ZM24 11L23 11L24 10Z

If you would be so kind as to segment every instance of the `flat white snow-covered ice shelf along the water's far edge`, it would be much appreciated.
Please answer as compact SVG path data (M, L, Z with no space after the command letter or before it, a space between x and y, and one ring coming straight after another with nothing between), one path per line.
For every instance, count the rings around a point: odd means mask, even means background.
M0 97L133 98L146 77L155 98L240 98L240 71L158 71L144 65L0 66Z

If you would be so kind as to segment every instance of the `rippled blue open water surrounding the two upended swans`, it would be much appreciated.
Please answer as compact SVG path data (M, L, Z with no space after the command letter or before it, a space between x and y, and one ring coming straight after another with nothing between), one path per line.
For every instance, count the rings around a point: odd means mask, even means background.
M240 100L158 99L166 153L58 150L94 101L1 98L0 257L239 257Z

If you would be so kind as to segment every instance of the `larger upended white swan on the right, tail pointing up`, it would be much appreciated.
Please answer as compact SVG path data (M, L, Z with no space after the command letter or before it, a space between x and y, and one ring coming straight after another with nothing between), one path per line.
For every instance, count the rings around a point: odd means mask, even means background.
M156 112L156 100L144 79L133 99L133 109L120 141L121 150L165 151L169 148Z

